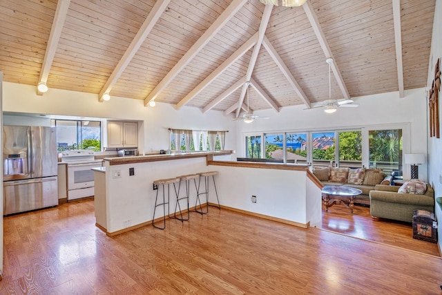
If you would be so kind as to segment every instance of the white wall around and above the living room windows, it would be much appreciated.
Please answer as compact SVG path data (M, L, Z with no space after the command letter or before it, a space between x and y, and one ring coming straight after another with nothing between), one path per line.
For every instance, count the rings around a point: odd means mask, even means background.
M279 113L273 110L256 111L257 115L270 118L256 120L251 124L238 122L237 156L244 157L244 134L246 133L326 131L392 124L410 129L403 135L404 153L427 153L425 133L427 130L427 102L424 88L405 91L403 98L399 98L398 92L394 92L356 97L354 101L359 104L358 108L338 108L338 111L333 114L325 113L322 108L305 110L305 106L281 108ZM406 142L410 144L406 144ZM410 167L404 165L404 177L406 178L407 175L410 175ZM419 178L427 180L426 164L419 166Z

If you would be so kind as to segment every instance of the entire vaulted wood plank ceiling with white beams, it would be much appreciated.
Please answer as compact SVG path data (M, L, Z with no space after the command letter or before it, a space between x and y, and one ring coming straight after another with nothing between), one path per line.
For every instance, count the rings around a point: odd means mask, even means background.
M426 86L434 5L0 0L0 70L6 82L43 81L100 101L109 93L238 115L247 81L251 110L328 99L325 59L333 57L332 99L403 95Z

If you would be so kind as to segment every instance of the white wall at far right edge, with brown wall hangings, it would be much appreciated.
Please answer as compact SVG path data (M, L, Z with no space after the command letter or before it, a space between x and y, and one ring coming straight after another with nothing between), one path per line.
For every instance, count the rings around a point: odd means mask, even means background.
M442 59L442 19L439 17L442 15L442 0L436 0L436 8L434 10L434 23L433 23L433 35L431 44L430 61L428 68L427 87L432 86L434 79L434 65L438 58ZM442 92L439 92L439 118L442 116ZM442 128L442 126L439 126ZM442 138L429 137L428 131L425 133L428 140L428 166L429 177L428 182L434 188L435 197L442 196ZM439 249L441 249L442 242L442 210L436 204L436 218L439 221Z

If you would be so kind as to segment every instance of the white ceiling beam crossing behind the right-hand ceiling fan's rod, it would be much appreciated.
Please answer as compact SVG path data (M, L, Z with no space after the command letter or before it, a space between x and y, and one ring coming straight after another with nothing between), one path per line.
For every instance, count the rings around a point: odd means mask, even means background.
M350 99L350 95L347 90L347 86L345 86L345 82L343 79L343 76L340 75L340 70L338 68L338 64L336 64L336 60L333 57L332 49L330 49L330 46L327 42L327 39L325 38L323 28L321 28L320 23L318 21L318 17L316 16L316 13L314 12L313 6L311 6L310 1L307 1L302 5L304 8L305 14L307 15L307 18L310 21L311 28L313 28L316 38L318 38L318 42L320 44L320 47L323 48L325 58L332 57L333 63L331 64L331 68L334 74L334 77L336 78L336 82L338 82L338 86L340 88L340 91L343 93L343 96L345 99ZM325 62L325 60L324 60Z

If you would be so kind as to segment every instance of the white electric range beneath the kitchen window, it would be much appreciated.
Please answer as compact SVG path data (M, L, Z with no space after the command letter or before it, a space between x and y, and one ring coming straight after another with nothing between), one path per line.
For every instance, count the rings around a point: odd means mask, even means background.
M102 166L102 160L95 160L95 152L63 151L61 162L68 164L68 201L94 196L94 173L91 169Z

